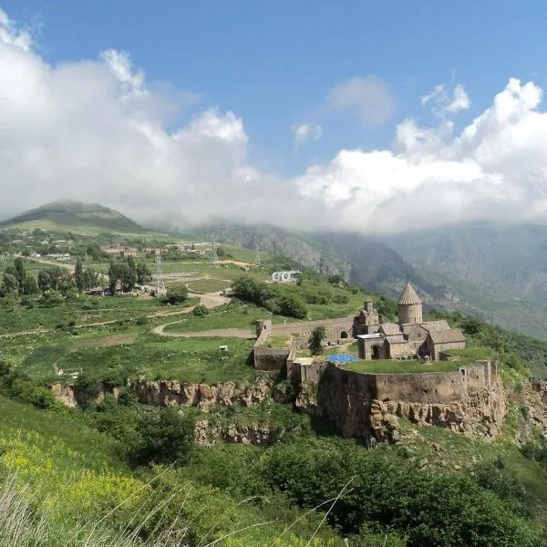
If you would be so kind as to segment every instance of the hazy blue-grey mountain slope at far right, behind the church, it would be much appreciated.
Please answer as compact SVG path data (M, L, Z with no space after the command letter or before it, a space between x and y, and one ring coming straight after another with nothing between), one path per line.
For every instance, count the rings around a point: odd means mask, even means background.
M429 283L444 286L449 309L547 337L547 228L473 223L382 238Z

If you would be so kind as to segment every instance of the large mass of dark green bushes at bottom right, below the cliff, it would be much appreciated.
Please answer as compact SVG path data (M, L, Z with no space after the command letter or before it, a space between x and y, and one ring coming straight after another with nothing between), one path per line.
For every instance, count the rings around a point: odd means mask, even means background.
M258 467L272 489L304 508L342 492L328 521L344 534L397 532L408 547L542 544L532 521L514 511L513 500L493 491L500 477L483 488L467 477L431 474L355 445L327 442L274 447Z

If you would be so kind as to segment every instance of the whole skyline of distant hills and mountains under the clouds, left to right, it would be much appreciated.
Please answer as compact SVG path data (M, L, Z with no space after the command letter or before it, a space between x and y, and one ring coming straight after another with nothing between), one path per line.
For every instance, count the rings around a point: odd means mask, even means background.
M0 230L151 232L98 204L55 201L0 222ZM391 236L295 232L218 222L173 235L218 240L288 257L324 274L397 296L407 278L429 307L478 315L547 339L547 227L473 223Z

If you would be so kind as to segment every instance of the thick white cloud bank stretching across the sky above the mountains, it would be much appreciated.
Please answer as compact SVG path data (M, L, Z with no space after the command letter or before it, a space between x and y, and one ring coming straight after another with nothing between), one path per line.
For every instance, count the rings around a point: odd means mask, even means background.
M338 88L331 99L355 106L359 86ZM108 50L51 66L0 11L0 209L75 199L139 221L223 217L359 232L545 222L541 100L541 88L511 78L490 108L456 132L453 117L470 98L461 86L439 87L425 100L438 109L437 125L404 119L392 150L340 150L283 178L253 167L237 114L209 108L168 130L181 105L151 88L129 55Z

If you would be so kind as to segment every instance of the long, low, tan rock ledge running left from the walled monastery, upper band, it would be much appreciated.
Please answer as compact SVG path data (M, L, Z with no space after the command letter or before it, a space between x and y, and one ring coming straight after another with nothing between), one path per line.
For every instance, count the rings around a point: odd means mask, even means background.
M129 382L128 387L135 392L139 403L156 407L167 405L203 409L211 408L213 405L250 407L271 397L272 394L272 386L268 382L243 386L226 382L210 386L178 381L146 382L138 380ZM74 384L54 384L52 391L57 400L67 407L99 402L104 399L107 393L111 393L114 397L119 395L117 387L109 390L103 386L99 389L98 394L89 395ZM278 393L275 395L280 397Z

